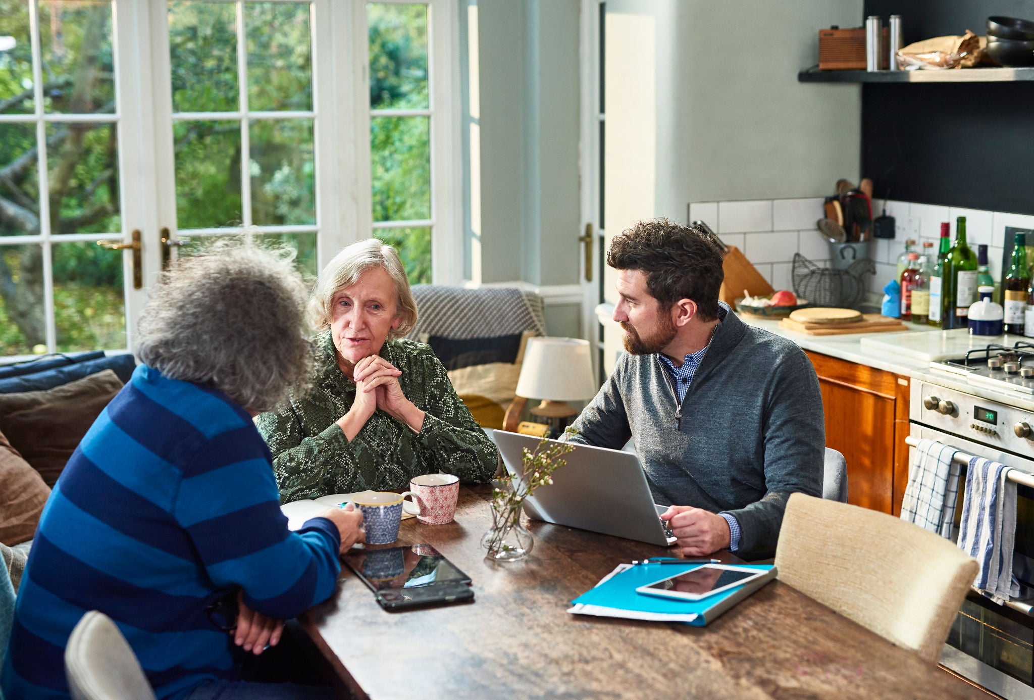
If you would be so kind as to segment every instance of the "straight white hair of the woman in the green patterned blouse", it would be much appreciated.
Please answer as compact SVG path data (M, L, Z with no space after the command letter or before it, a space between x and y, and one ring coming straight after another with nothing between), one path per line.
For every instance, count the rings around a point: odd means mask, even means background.
M331 304L334 295L355 284L364 272L372 268L384 268L395 282L396 313L402 318L398 328L393 328L388 339L401 338L409 334L417 325L417 302L409 291L409 278L398 257L398 252L375 238L359 241L342 248L334 260L320 273L316 286L309 300L309 314L317 331L330 328Z

